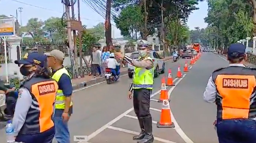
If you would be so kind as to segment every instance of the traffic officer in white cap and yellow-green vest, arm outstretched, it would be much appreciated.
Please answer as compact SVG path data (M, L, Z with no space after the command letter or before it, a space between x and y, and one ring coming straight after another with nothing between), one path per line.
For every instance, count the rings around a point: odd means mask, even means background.
M152 117L150 114L150 95L154 83L154 63L150 57L149 45L146 40L138 40L139 61L131 57L124 56L117 52L116 56L124 58L129 64L134 65L134 74L132 83L129 87L128 98L132 99L133 91L133 108L139 120L141 132L138 136L133 136L137 143L152 143Z

